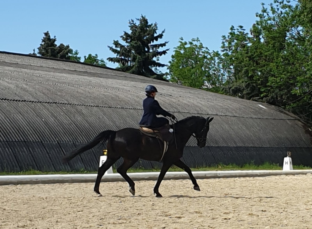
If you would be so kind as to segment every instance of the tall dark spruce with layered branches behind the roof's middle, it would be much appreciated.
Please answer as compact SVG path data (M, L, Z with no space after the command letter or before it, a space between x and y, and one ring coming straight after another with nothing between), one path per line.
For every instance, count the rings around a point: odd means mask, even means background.
M165 47L168 41L160 44L152 44L163 38L164 30L156 35L158 30L157 23L149 24L147 18L143 15L138 19L139 24L134 20L129 21L130 33L124 32L120 38L126 43L121 44L118 40L113 42L112 46L108 46L110 51L116 54L116 57L108 57L107 60L118 63L121 71L133 73L141 76L165 80L161 72L155 72L153 68L165 67L165 64L158 62L158 57L165 55L169 49L159 51ZM154 59L156 58L156 59Z

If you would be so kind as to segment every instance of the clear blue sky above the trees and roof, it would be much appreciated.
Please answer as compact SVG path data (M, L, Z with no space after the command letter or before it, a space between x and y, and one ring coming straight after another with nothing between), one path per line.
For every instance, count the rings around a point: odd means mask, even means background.
M43 32L49 31L57 44L77 49L82 60L89 53L97 53L107 66L116 67L106 60L115 56L107 46L114 39L121 41L123 31L129 32L129 19L143 14L150 23L158 23L158 32L166 29L161 41L169 41L170 51L160 62L167 64L179 37L186 41L199 37L210 50L219 50L221 36L232 25L249 31L255 13L261 12L261 2L267 5L273 0L2 0L0 50L37 51Z

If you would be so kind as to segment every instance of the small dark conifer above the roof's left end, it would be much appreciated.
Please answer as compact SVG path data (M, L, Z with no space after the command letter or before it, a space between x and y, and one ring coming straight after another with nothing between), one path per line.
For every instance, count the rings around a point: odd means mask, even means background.
M44 32L44 37L41 39L41 44L37 48L40 56L53 57L58 59L70 60L72 49L69 45L56 45L56 37L51 38L49 31Z

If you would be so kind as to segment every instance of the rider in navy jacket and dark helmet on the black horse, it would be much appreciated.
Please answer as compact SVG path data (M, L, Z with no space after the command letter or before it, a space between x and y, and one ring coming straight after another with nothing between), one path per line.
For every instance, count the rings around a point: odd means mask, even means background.
M158 101L155 100L157 92L158 91L155 86L146 86L145 95L147 97L143 100L144 113L139 125L151 128L168 128L169 132L172 133L173 129L169 126L169 120L163 117L158 118L156 115L161 114L165 117L168 116L173 119L176 119L176 117L160 107Z

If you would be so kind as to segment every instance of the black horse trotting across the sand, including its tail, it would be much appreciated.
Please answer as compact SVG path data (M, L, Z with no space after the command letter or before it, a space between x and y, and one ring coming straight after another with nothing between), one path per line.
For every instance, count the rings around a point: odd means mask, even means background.
M67 163L77 155L95 147L99 143L107 143L107 159L105 163L99 167L97 178L95 181L94 191L101 196L99 187L100 181L104 173L120 158L124 162L117 168L117 172L129 183L129 192L134 195L135 188L133 180L127 175L130 167L136 163L139 158L149 161L162 161L163 166L158 176L157 183L154 187L156 197L162 197L158 192L160 183L162 182L166 172L172 165L182 168L188 173L192 180L194 189L200 191L200 188L194 178L191 169L183 163L180 158L183 156L183 149L191 136L197 139L197 146L202 148L206 145L207 132L209 131L209 123L213 118L203 118L199 116L190 116L182 119L172 125L174 129L174 140L168 144L165 154L166 144L163 140L151 136L151 133L141 131L135 128L124 128L118 131L105 130L98 134L88 144L76 148L70 155L62 158L63 163ZM160 159L162 158L162 159Z

